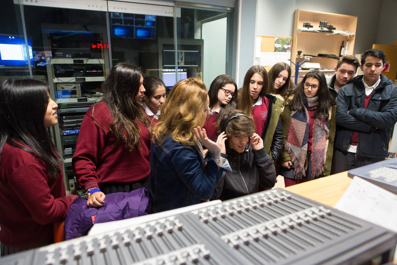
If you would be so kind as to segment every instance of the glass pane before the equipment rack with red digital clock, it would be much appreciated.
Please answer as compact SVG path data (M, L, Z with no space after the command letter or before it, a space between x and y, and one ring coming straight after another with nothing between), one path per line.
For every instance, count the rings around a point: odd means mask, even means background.
M110 69L106 12L24 6L27 36L32 38L33 78L47 81L58 104L51 128L64 161L67 190L77 188L71 158L85 112L101 100Z

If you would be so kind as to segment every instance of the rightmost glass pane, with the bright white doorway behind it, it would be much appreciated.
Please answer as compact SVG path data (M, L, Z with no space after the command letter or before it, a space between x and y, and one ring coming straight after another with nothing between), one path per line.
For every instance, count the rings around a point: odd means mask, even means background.
M209 9L177 6L177 71L179 77L198 77L209 89L212 80L231 73L230 44L227 34L233 24L233 12L228 9Z

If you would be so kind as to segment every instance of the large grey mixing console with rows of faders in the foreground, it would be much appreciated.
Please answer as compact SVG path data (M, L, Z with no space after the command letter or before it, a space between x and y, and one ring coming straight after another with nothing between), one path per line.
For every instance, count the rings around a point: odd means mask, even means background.
M282 189L1 259L8 265L382 264L397 234Z

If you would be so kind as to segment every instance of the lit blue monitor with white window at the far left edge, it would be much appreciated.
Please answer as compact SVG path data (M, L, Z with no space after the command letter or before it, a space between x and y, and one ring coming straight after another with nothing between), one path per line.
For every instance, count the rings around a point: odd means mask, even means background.
M27 38L29 58L26 52L25 38L19 35L0 35L0 69L27 68L33 64L32 42Z

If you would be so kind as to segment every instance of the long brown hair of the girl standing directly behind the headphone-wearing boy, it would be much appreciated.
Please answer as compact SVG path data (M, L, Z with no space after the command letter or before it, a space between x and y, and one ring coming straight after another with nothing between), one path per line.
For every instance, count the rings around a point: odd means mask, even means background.
M241 110L244 111L247 116L252 117L252 105L254 104L254 100L252 99L249 92L249 85L251 83L251 78L254 74L260 74L263 78L263 88L259 93L259 97L263 97L268 93L269 90L269 76L268 72L263 66L254 65L252 66L247 73L245 74L243 87L239 90L239 100L238 106Z

